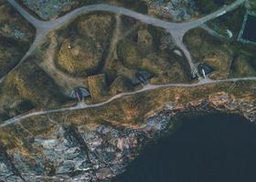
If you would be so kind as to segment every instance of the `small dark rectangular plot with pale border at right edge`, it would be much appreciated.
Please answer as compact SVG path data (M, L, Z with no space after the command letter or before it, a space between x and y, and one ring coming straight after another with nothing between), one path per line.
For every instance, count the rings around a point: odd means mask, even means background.
M256 42L256 16L248 15L242 38Z

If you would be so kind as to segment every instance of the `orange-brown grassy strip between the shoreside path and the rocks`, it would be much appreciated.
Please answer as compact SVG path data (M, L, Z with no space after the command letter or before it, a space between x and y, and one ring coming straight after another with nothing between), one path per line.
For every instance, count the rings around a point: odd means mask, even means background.
M255 101L256 91L252 87L255 82L221 84L219 86L198 86L194 88L162 88L135 96L125 96L112 103L83 111L69 113L69 121L80 125L84 120L88 122L110 121L112 123L140 123L144 118L155 113L165 106L166 102L175 102L183 106L188 103L197 103L200 99L207 99L218 92L227 92L230 96L243 97L245 100ZM67 114L68 114L67 113ZM63 116L63 114L61 114ZM57 115L57 116L61 116ZM84 118L84 119L82 119Z

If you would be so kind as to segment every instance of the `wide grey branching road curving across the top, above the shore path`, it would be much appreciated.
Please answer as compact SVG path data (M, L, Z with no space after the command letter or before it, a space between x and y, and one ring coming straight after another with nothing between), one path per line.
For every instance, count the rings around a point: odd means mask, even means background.
M196 28L199 25L203 25L209 20L219 17L219 15L224 15L245 2L245 0L236 0L233 4L223 6L218 11L212 14L206 15L202 18L199 18L195 21L185 22L185 23L171 23L171 22L166 22L164 20L157 19L150 15L143 15L143 14L134 12L133 10L130 10L124 7L119 7L115 5L106 5L106 4L83 6L73 10L67 15L63 15L59 17L54 21L45 22L45 21L38 20L34 16L27 13L27 11L21 5L18 5L15 0L7 0L7 1L11 5L13 5L16 8L16 10L20 13L20 15L23 15L30 24L34 25L37 28L36 39L33 45L31 45L30 49L28 50L26 56L23 57L20 63L22 63L27 58L27 56L31 55L31 53L36 49L36 47L46 37L46 35L48 35L50 31L56 30L63 25L69 24L69 22L76 19L79 15L88 14L96 11L104 11L104 12L110 12L118 15L127 15L130 17L133 17L136 20L144 22L145 24L155 25L158 27L165 28L165 30L172 35L173 41L176 44L176 46L180 48L183 51L184 55L187 57L187 61L190 66L191 73L193 73L193 71L196 70L198 77L200 76L197 72L197 67L194 64L193 59L190 56L189 51L187 50L187 47L183 44L183 36L187 33L187 31L193 28ZM17 66L20 66L20 64L18 64ZM16 69L16 67L14 69ZM0 83L3 80L4 78L0 79Z

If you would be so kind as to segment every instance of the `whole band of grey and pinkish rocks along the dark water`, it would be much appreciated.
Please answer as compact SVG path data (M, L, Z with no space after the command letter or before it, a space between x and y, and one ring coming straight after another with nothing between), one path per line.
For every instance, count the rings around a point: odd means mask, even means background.
M2 181L111 181L123 173L148 142L168 134L179 123L180 116L209 112L239 114L256 121L256 105L235 99L224 92L179 106L169 102L142 125L59 126L48 138L33 138L32 147L43 154L22 157L21 151L7 154L0 148L0 179ZM178 122L177 122L178 121ZM28 165L33 158L34 166Z

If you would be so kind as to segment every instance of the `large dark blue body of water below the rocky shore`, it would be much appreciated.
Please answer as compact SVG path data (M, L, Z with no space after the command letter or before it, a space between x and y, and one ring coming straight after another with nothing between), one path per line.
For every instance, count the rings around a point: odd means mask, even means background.
M113 182L255 182L256 126L234 115L187 118Z

